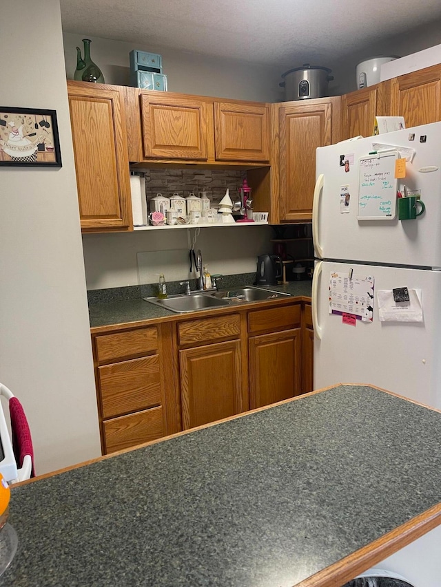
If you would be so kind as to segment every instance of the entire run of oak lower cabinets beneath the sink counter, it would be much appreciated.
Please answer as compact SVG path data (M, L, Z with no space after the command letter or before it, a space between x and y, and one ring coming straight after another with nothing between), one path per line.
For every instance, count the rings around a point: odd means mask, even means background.
M312 389L311 306L241 306L92 334L103 454Z

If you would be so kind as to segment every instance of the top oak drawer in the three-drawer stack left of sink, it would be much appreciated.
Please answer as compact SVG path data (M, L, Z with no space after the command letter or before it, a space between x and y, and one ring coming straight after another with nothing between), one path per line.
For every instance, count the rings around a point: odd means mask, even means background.
M99 363L107 363L157 350L158 332L156 327L139 328L130 332L103 334L95 341Z

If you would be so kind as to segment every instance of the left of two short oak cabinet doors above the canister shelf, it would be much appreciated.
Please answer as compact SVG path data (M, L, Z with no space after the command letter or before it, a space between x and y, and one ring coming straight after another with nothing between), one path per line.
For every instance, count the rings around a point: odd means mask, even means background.
M141 94L144 156L206 160L210 105L162 94Z

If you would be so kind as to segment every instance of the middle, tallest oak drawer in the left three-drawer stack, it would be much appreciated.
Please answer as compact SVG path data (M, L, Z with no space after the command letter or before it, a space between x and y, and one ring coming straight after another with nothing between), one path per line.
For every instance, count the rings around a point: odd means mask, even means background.
M161 403L159 356L98 367L103 418Z

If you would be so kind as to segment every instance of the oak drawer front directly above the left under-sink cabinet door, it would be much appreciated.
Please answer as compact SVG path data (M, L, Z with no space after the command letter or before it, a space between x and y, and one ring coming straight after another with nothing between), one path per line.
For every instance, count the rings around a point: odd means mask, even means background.
M237 339L239 336L239 314L189 320L178 325L178 340L180 345Z

